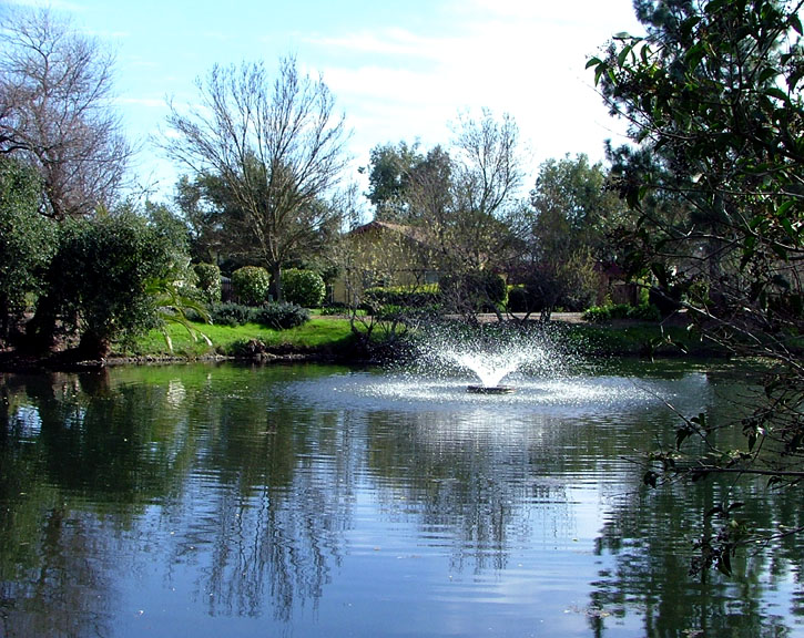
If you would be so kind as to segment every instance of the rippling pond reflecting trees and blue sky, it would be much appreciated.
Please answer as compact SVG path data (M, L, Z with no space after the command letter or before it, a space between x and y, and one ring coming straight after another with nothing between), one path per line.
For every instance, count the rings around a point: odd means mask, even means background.
M466 379L316 364L0 375L0 635L802 636L802 541L689 574L724 495L642 485L731 366Z

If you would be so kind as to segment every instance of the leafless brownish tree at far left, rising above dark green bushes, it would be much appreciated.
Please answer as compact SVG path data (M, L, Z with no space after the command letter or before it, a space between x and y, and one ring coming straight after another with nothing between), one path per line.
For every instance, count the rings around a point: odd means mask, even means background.
M55 218L110 206L132 148L110 105L114 59L49 10L0 29L0 153L33 165Z

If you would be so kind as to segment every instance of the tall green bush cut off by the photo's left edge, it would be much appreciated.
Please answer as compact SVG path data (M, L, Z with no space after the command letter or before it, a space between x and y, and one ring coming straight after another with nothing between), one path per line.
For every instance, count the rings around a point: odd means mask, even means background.
M55 225L39 214L37 174L0 157L0 339L38 297L55 248Z

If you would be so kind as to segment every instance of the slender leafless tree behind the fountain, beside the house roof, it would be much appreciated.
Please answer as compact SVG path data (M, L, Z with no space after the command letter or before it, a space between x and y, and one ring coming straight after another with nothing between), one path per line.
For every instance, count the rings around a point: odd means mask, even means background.
M478 310L478 292L484 297L487 288L479 282L497 288L493 275L507 269L517 244L512 223L522 208L518 143L509 115L497 120L484 110L476 120L464 114L449 153L432 148L406 184L408 216L430 237L441 292L468 318Z

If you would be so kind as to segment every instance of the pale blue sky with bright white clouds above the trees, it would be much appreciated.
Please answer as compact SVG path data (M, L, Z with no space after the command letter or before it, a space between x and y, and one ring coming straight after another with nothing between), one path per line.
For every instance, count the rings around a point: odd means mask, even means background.
M2 0L0 0L1 2ZM12 0L35 4L35 0ZM549 157L602 160L611 120L586 61L620 31L639 32L631 0L52 0L116 52L118 105L143 145L136 169L170 197L176 168L150 144L166 99L195 99L213 64L294 54L322 74L353 130L356 168L377 144L448 144L461 111L517 121L535 171ZM532 185L529 178L527 187Z

